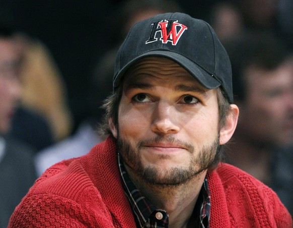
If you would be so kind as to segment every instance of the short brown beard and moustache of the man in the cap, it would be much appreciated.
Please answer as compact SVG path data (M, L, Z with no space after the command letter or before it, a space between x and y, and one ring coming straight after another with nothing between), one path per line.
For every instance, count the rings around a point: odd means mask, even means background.
M152 165L143 167L140 159L142 146L148 143L159 142L176 143L186 148L191 155L189 166L173 166L169 167L167 170L162 170ZM135 175L148 184L162 187L185 184L204 170L214 167L219 160L219 135L211 144L203 145L200 150L196 150L190 143L176 140L173 136L157 136L154 139L141 140L135 145L132 145L118 134L117 146L124 164L131 168ZM197 156L195 156L196 153L198 154ZM164 157L169 157L169 155L161 155L160 158Z

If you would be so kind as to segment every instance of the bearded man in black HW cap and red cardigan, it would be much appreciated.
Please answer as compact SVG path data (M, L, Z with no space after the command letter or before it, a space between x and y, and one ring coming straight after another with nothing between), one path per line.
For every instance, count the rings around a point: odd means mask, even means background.
M291 227L274 192L218 165L239 113L231 81L205 22L167 13L135 24L105 103L109 138L47 169L10 226Z

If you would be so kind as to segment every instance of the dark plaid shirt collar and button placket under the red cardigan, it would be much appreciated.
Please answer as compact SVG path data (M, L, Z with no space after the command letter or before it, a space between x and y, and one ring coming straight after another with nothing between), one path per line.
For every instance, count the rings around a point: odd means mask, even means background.
M132 207L137 227L168 227L169 215L165 210L156 208L147 198L145 198L130 180L122 159L118 153L118 165L121 174L124 192ZM204 179L197 203L192 216L196 217L194 227L209 227L210 194L207 179Z

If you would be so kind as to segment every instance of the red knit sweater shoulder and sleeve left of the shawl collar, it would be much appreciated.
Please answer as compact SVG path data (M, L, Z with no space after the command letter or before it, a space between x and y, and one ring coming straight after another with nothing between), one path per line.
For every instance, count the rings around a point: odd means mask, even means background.
M95 185L99 177L91 178L85 159L87 155L48 168L16 207L9 227L109 227L111 214Z

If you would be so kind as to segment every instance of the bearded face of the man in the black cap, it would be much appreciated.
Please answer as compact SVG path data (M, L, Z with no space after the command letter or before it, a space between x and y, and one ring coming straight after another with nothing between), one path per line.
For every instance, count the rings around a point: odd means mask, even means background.
M216 90L165 58L128 70L118 111L118 152L151 184L177 185L213 162L219 141Z

